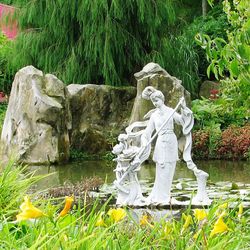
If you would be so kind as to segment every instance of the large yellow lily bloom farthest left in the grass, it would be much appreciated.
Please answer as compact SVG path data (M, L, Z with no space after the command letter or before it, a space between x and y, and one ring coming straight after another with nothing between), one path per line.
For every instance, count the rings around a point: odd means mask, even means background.
M36 219L45 215L40 209L32 205L28 196L24 197L24 202L21 204L20 209L21 213L16 216L17 221Z

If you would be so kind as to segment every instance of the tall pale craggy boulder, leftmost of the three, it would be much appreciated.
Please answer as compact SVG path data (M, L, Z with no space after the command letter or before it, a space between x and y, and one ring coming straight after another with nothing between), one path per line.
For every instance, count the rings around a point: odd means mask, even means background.
M69 158L71 115L64 84L27 66L12 84L1 135L2 154L32 164Z

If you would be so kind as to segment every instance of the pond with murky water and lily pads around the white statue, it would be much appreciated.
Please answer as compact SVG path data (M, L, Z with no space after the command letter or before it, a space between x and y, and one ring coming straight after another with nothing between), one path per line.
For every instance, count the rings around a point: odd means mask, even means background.
M207 192L211 199L238 199L241 198L244 207L250 207L250 165L244 161L196 161L197 166L209 173ZM114 193L112 185L115 180L113 172L115 163L110 161L79 161L71 162L65 165L57 166L31 166L30 170L36 170L37 174L53 173L49 177L41 180L35 189L44 190L52 187L62 186L65 182L72 184L88 177L101 177L105 180L105 185L100 189L99 193L95 193L94 197L107 197ZM154 164L144 164L139 173L139 180L144 195L148 195L152 188L155 176ZM177 189L177 184L186 183L183 190ZM232 190L232 183L237 183L238 190ZM197 183L191 170L185 163L179 162L176 167L172 186L172 196L177 200L189 200L194 192L196 192ZM113 201L114 202L114 201ZM150 213L156 220L163 216L178 216L178 209L133 209L132 213L138 219L144 212Z

